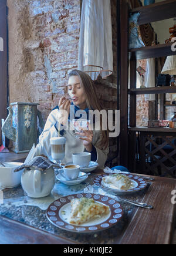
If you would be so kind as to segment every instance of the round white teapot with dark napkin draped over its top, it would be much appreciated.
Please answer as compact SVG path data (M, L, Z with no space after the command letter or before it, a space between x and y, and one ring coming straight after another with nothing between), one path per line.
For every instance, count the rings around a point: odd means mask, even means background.
M29 197L40 198L49 196L55 186L55 171L53 167L43 171L25 168L21 177L21 184Z

